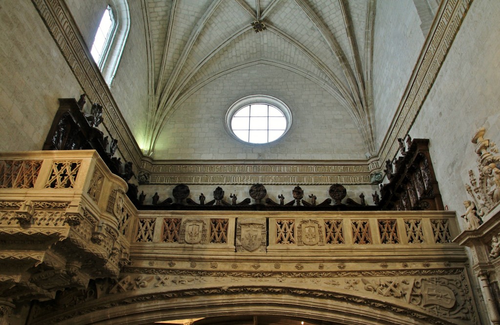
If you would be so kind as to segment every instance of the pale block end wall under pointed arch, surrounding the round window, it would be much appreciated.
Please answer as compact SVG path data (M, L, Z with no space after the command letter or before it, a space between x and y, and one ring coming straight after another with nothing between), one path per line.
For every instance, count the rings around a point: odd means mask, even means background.
M273 144L249 145L224 129L236 100L266 94L292 113L288 133ZM154 159L366 159L361 135L347 110L319 85L268 64L245 67L204 85L178 107L161 133Z

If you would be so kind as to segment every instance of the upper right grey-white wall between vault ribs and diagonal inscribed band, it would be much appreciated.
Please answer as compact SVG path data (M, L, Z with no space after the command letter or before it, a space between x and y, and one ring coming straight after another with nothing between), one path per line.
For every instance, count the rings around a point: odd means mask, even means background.
M423 42L412 0L377 1L372 64L376 147L390 127Z

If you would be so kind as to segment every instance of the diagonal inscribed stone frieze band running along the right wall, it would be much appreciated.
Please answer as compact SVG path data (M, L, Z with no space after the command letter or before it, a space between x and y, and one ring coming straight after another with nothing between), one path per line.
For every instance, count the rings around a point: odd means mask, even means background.
M391 127L378 152L379 166L392 159L398 150L397 138L408 134L413 122L432 88L444 63L463 18L473 0L445 0L432 25L432 35L427 37L406 90L394 114ZM391 155L392 153L392 155Z

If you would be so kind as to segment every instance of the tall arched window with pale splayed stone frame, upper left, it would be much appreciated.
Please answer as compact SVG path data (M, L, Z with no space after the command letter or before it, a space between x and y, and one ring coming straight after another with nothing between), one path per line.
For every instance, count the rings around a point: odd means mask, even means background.
M126 0L110 0L102 14L90 53L108 85L116 73L130 29L130 12Z

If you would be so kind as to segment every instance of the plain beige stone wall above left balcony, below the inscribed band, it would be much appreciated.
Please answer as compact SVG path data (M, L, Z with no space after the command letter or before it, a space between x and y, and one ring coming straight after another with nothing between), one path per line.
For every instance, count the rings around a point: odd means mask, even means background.
M57 98L81 87L31 1L2 1L0 30L0 151L40 150Z

